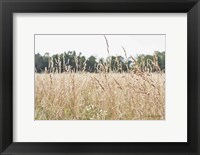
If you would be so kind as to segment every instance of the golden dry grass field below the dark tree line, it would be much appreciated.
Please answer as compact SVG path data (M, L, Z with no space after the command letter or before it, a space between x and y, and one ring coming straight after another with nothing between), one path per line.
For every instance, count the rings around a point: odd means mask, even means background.
M163 120L165 73L35 73L36 120Z

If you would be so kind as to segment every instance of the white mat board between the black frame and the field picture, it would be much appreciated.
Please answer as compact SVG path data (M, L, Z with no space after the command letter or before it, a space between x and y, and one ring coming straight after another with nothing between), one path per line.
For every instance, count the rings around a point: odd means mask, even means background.
M186 14L15 13L13 19L14 142L187 141ZM34 121L34 34L166 34L166 120Z

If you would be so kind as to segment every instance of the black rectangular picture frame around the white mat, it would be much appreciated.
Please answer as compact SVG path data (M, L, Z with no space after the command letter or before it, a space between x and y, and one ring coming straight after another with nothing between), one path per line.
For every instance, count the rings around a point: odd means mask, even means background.
M13 142L13 13L47 12L187 13L188 142ZM199 50L200 2L198 0L0 0L0 153L200 154Z

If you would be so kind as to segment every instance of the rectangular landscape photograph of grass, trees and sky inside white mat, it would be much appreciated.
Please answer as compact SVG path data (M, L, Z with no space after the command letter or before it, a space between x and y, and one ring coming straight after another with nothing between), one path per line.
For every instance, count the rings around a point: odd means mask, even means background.
M166 34L35 34L35 120L165 120Z

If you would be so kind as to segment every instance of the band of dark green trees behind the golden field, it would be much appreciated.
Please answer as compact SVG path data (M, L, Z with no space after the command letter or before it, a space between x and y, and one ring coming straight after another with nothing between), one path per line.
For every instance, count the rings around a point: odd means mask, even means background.
M165 70L165 52L155 51L153 55L138 55L133 57L108 56L107 58L97 58L91 55L86 58L82 53L68 51L62 54L49 53L41 55L35 54L35 72L43 73L63 73L63 72L129 72L134 67L139 67L141 71L158 72Z

